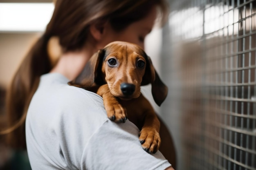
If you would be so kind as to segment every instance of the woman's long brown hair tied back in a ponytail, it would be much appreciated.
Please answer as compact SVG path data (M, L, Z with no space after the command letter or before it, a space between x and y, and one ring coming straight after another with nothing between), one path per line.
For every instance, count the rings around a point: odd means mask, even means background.
M79 50L85 45L92 22L108 20L115 31L122 31L144 18L155 5L160 9L162 21L166 20L168 4L165 0L57 0L45 32L25 56L9 88L7 143L15 148L26 148L27 108L40 76L52 69L47 53L50 38L58 37L64 51Z

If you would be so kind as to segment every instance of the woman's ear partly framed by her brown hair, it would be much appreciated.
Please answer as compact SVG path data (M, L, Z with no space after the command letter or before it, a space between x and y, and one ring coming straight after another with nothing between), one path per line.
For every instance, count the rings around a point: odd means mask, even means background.
M106 26L106 20L101 20L90 24L90 33L92 34L92 37L97 41L101 40L106 32Z

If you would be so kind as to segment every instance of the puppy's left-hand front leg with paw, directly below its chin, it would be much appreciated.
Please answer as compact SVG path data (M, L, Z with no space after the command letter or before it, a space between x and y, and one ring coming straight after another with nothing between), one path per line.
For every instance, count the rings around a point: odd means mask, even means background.
M110 93L108 84L100 86L97 94L103 98L103 104L110 120L118 123L126 121L126 109L121 106L117 98Z

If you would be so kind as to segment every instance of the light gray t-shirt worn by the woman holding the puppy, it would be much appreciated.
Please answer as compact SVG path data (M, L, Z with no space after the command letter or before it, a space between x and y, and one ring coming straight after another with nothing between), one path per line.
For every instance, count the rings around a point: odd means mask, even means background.
M130 121L110 121L102 97L69 86L58 73L41 76L26 119L33 170L164 170L158 151L145 152Z

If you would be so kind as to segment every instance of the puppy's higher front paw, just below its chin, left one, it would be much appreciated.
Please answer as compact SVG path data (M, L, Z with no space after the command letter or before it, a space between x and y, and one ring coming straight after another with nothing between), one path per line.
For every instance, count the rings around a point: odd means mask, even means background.
M105 109L110 120L117 123L124 123L127 120L126 108L123 108L121 104L110 104L107 107L105 106Z

